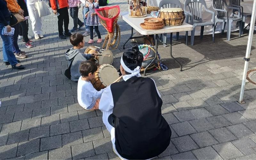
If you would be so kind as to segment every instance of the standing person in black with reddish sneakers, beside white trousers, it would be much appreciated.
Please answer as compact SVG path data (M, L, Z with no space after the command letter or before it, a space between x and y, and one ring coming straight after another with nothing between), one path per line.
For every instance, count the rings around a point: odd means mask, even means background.
M25 0L17 0L20 8L24 11L24 17L27 19L20 22L22 36L23 36L23 43L25 43L27 48L33 47L31 44L33 41L28 39L28 8Z

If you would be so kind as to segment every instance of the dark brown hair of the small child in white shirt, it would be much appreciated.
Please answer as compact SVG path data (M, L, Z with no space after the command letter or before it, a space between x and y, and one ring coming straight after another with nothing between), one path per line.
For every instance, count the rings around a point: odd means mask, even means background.
M97 66L95 62L92 61L83 61L79 66L79 72L82 77L87 77L89 73L94 73L97 71Z

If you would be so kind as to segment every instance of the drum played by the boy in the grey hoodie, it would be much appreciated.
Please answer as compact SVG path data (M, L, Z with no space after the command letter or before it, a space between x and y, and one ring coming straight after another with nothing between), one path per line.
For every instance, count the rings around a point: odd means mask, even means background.
M85 54L92 54L97 52L97 54L107 55L107 56L95 56L95 61L97 60L99 64L112 64L113 62L113 53L110 50L104 50L102 48L97 48L95 46L90 46L86 48ZM110 57L108 57L110 55Z

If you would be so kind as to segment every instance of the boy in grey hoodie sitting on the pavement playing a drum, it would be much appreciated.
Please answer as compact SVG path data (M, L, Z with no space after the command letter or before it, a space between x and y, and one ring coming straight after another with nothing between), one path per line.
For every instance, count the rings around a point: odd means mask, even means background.
M68 60L68 68L70 67L71 80L77 82L81 76L79 65L82 61L94 58L95 54L84 54L80 51L84 47L84 36L79 33L70 36L70 43L73 45L73 48L68 49L66 52L66 59Z

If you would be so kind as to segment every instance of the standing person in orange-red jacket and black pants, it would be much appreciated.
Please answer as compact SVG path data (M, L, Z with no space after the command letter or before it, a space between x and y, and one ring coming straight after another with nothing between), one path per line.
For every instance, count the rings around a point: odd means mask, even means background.
M71 36L68 30L69 16L68 16L68 1L67 0L50 0L52 5L52 10L54 14L58 15L58 30L59 38L66 39L66 36ZM63 35L63 21L64 21L64 35Z

